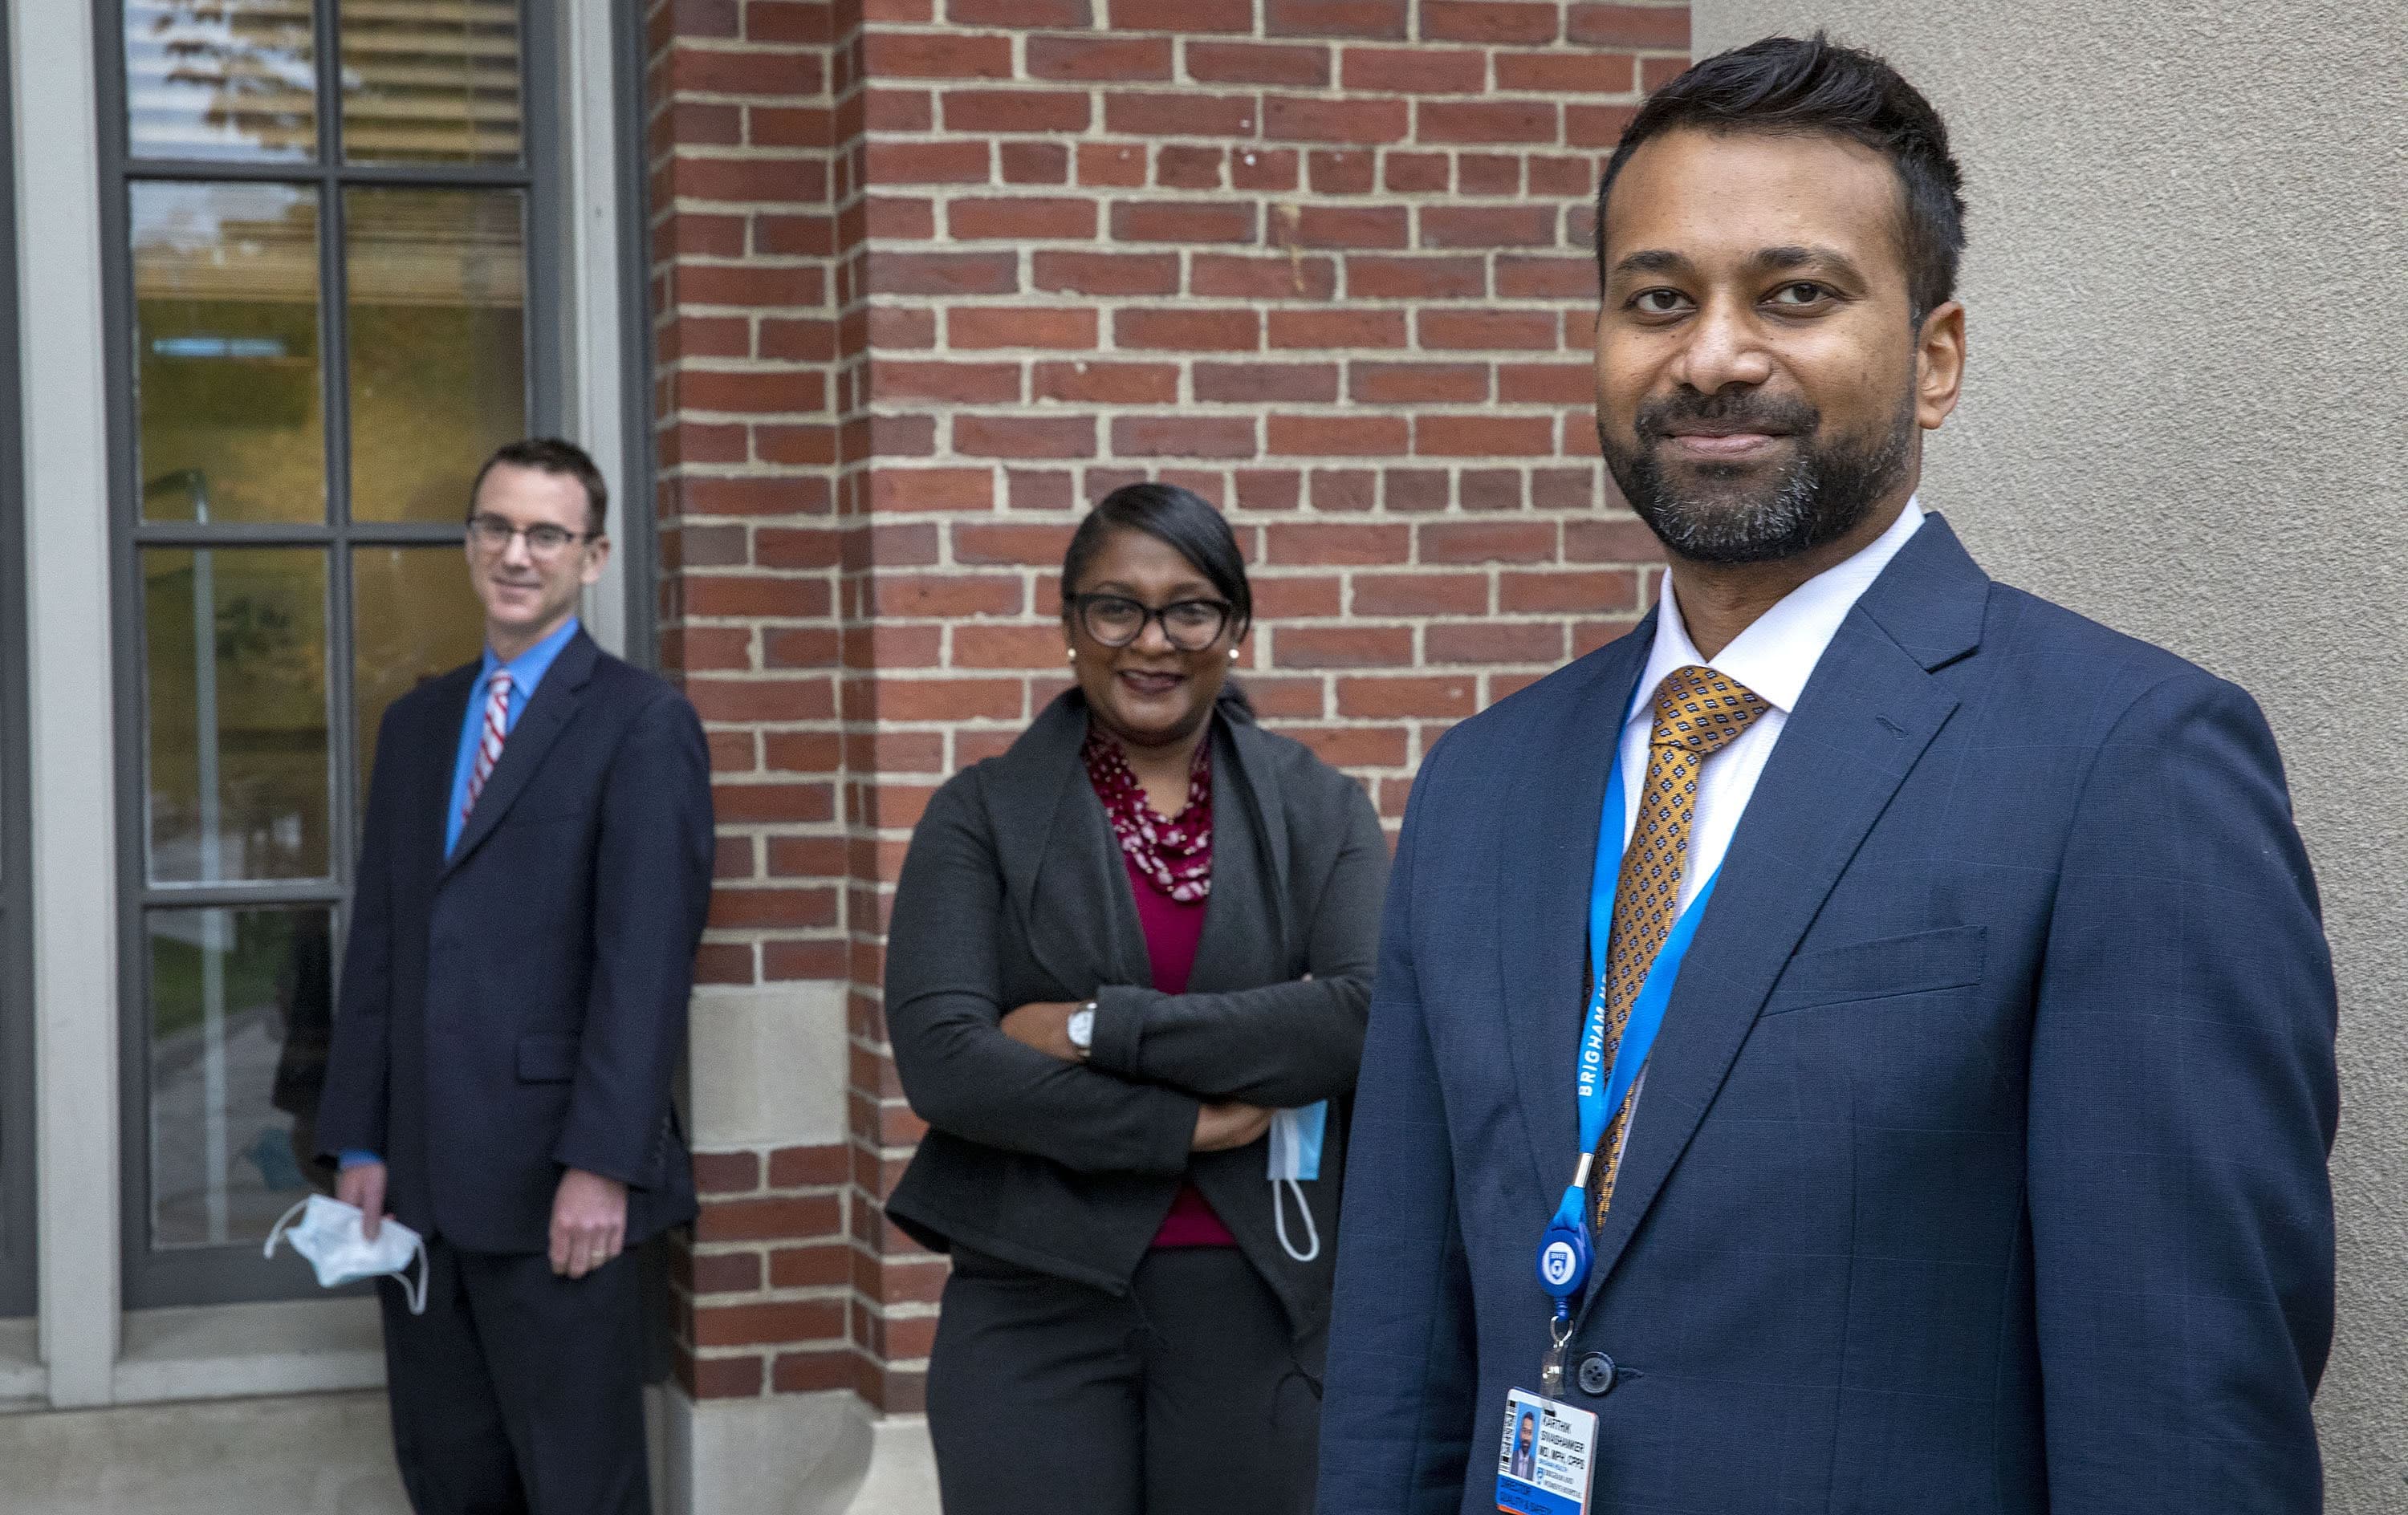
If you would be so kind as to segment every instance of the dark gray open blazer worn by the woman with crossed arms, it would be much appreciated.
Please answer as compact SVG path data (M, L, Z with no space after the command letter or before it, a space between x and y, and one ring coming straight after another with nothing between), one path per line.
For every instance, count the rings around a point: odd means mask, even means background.
M1163 995L1084 737L1072 689L1009 751L937 790L913 831L886 942L886 1033L929 1132L886 1212L922 1245L963 1243L1125 1293L1194 1178L1298 1339L1312 1337L1329 1310L1387 886L1380 819L1298 742L1216 715L1211 903L1187 992ZM1038 1000L1096 1000L1088 1062L997 1028ZM1322 1248L1303 1265L1279 1245L1267 1144L1187 1144L1202 1101L1322 1098L1322 1175L1303 1185Z

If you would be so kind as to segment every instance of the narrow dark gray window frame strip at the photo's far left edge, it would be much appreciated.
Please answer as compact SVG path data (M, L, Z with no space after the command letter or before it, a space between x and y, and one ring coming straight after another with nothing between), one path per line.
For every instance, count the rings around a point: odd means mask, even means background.
M24 409L17 393L17 104L0 26L0 1320L34 1313L34 850L24 667Z

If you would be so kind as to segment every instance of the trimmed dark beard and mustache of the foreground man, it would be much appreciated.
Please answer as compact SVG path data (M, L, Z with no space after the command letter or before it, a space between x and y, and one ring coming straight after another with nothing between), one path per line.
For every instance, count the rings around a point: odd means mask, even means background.
M1717 424L1796 438L1770 477L1755 462L1681 462L1664 467L1664 438L1676 422ZM1623 499L1664 547L1698 564L1770 564L1825 547L1864 525L1873 506L1905 479L1914 446L1914 393L1873 436L1823 436L1823 412L1804 400L1751 390L1695 390L1640 405L1635 448L1621 446L1604 419L1597 441Z

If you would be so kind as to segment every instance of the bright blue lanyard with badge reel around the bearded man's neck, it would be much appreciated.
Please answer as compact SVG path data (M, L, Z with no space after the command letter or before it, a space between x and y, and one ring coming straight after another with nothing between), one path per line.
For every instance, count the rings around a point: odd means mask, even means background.
M1645 694L1642 689L1640 698ZM1628 715L1623 725L1628 725ZM1597 857L1589 865L1589 1014L1580 1028L1580 1067L1572 1081L1580 1101L1580 1168L1572 1175L1572 1185L1563 1190L1556 1219L1548 1221L1546 1236L1539 1243L1539 1286L1556 1296L1558 1320L1570 1310L1570 1298L1589 1281L1589 1224L1584 1216L1589 1163L1597 1156L1599 1142L1606 1139L1606 1125L1623 1108L1623 1101L1630 1098L1633 1084L1637 1084L1640 1072L1647 1067L1647 1053L1654 1048L1657 1031L1664 1028L1664 1007L1671 1004L1671 990L1681 980L1681 961L1688 956L1688 944L1698 937L1698 920L1705 915L1705 903L1714 896L1714 882L1722 879L1722 869L1717 867L1698 891L1698 898L1681 910L1681 918L1664 937L1664 947L1647 968L1647 983L1640 985L1640 997L1630 1004L1630 1021L1623 1026L1623 1041L1616 1045L1613 1067L1609 1069L1606 944L1613 937L1613 886L1623 872L1625 809L1623 727L1613 727L1613 768L1606 778L1606 809L1597 819Z

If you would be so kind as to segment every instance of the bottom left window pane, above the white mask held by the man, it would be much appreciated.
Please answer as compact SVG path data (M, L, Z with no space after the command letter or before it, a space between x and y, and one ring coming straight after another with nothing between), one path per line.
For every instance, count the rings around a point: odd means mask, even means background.
M149 1243L258 1245L311 1187L335 1028L332 918L323 906L152 910L147 925Z

